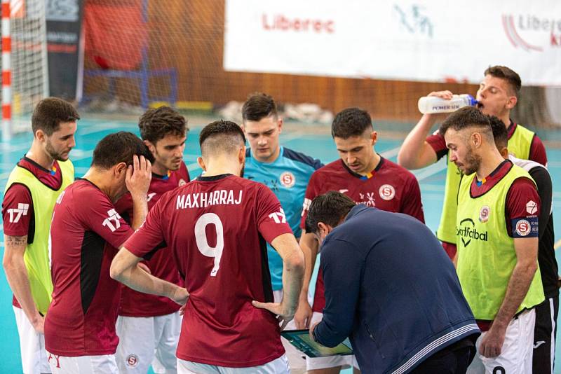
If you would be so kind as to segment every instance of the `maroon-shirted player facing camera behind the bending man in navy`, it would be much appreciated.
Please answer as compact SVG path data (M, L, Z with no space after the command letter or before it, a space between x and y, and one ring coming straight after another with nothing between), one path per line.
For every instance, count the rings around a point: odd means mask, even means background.
M424 222L419 183L406 169L376 153L374 145L378 135L372 127L370 114L358 108L344 109L337 113L331 128L340 159L312 174L306 189L301 227L305 227L311 200L331 190L344 193L367 207L409 214ZM300 245L306 256L306 275L295 322L297 328L308 328L311 323L320 321L325 296L320 272L313 307L310 307L307 293L318 242L312 233L303 231ZM339 373L341 366L352 364L351 360L349 356L308 358L306 366L312 373Z

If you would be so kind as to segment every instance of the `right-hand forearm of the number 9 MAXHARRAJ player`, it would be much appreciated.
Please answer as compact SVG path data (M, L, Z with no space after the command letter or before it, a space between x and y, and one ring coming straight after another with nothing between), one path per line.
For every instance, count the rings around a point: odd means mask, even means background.
M296 312L300 290L304 279L304 255L302 251L293 251L283 259L283 304L290 314Z

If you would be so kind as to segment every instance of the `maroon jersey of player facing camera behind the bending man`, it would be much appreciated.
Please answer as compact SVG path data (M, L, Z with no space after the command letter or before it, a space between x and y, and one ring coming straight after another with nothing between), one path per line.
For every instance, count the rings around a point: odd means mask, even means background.
M390 160L380 158L371 176L356 174L346 167L343 160L336 160L316 170L306 188L301 227L308 215L311 200L327 191L339 191L348 195L357 204L377 207L387 212L409 214L424 223L421 189L415 176ZM323 275L316 281L313 311L323 312L325 307Z

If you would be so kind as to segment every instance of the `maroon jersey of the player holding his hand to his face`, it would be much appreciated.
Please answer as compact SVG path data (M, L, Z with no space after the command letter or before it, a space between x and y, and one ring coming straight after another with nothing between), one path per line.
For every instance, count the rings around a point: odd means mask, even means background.
M62 192L50 226L53 301L45 347L60 356L114 354L121 287L109 277L117 248L133 230L86 179Z

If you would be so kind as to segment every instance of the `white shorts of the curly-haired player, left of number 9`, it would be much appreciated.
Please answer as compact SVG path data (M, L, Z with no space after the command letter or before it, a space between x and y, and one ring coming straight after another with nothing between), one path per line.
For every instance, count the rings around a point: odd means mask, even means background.
M146 374L150 365L156 374L177 373L175 351L180 338L179 312L157 317L117 318L119 346L115 353L121 374Z

